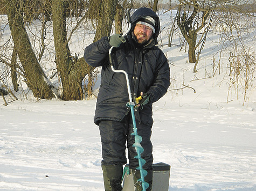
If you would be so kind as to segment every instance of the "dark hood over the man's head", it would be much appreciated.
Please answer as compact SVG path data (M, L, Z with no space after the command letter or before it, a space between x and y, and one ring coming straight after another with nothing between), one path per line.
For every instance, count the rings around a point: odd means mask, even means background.
M135 27L137 21L139 21L141 18L146 17L146 16L150 16L150 17L154 18L155 21L156 21L156 24L155 24L156 32L153 34L153 38L155 40L155 44L157 44L157 37L158 37L158 35L160 33L160 20L159 20L159 17L157 16L157 14L153 10L151 10L149 8L137 9L133 13L133 15L130 17L131 21L132 21L131 31L133 32L134 27Z

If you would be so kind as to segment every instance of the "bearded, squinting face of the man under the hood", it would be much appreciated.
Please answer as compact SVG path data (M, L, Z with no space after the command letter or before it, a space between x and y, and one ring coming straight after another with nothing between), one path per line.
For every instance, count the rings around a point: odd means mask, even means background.
M137 24L133 32L139 43L147 42L153 35L151 28L142 24Z

